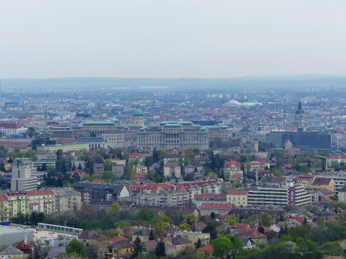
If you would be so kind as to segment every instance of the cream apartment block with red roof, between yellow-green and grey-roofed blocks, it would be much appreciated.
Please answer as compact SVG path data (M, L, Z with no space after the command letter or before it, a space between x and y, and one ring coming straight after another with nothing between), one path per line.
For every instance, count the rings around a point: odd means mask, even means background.
M55 213L55 195L51 190L28 191L29 213L32 211Z

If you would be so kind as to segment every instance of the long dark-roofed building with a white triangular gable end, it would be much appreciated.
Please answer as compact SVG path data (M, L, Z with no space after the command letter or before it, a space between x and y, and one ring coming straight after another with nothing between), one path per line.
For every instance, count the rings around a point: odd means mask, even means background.
M120 197L129 196L124 185L78 182L73 185L73 189L82 195L81 201L87 204L93 200L118 201Z

